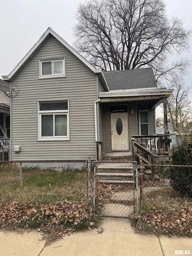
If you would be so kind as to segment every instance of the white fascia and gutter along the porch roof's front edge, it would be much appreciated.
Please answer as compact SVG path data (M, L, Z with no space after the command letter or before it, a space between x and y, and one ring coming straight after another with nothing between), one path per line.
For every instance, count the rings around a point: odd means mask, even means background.
M156 89L146 91L114 91L99 92L99 97L126 97L126 96L147 96L147 95L167 95L173 92L173 89Z

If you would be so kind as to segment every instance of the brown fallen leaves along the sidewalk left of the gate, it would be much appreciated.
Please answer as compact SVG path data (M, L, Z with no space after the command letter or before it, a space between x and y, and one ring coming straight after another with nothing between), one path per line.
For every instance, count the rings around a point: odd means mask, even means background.
M47 241L70 235L74 231L97 227L98 220L85 203L74 204L68 200L54 205L23 205L13 201L0 204L0 227L4 230L35 229L48 234ZM50 239L51 237L51 239Z

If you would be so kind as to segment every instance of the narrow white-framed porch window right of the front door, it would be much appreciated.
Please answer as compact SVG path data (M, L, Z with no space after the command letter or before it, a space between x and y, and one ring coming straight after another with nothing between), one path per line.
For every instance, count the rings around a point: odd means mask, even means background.
M149 135L149 110L139 110L139 135Z

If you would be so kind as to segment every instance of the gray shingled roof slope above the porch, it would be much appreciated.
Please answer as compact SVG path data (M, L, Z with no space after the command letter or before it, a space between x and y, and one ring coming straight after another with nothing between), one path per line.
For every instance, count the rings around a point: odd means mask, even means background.
M157 87L152 68L104 71L110 91Z

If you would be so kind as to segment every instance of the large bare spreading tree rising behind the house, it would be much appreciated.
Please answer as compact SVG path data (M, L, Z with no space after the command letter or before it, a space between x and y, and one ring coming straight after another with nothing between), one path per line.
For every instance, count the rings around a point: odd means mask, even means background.
M168 59L189 49L191 30L182 19L167 17L163 0L89 0L78 5L76 20L75 48L95 67L151 66L157 81L186 72L188 59Z

